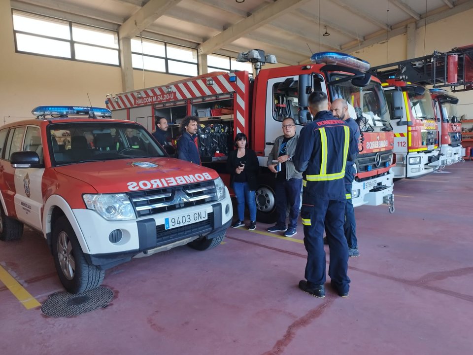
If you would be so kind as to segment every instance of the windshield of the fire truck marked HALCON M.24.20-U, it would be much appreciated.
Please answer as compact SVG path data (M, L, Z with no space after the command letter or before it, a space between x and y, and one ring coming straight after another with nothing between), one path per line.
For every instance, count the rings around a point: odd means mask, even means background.
M332 74L330 80L335 81L346 77L345 74ZM331 101L345 99L350 117L364 118L373 131L392 131L389 123L389 111L380 83L371 81L367 86L357 87L351 81L335 83L331 87Z

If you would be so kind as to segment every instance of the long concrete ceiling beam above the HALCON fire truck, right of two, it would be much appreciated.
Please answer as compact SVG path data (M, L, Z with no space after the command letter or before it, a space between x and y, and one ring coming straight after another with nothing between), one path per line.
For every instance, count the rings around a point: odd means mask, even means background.
M300 7L309 0L277 0L259 10L256 10L247 18L230 26L225 31L203 42L198 48L200 54L209 54L224 45L233 42L247 33L267 24L278 16Z

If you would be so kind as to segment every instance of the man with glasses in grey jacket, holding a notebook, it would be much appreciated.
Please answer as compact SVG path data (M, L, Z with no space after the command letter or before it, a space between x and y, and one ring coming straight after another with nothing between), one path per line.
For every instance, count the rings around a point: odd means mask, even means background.
M274 141L268 156L268 168L275 174L276 224L268 232L285 232L285 237L294 236L301 205L302 174L294 168L292 157L299 136L292 117L282 121L282 136ZM280 167L280 170L278 169ZM286 210L289 205L289 223L286 227Z

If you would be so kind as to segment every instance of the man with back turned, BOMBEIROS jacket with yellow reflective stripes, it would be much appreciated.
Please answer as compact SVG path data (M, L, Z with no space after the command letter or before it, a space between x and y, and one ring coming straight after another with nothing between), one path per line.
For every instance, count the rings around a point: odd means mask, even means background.
M347 297L348 246L343 233L345 216L344 175L347 159L353 161L358 151L350 142L348 125L330 111L327 95L315 91L308 98L314 120L301 131L294 153L294 166L303 172L301 218L304 246L307 250L305 280L299 288L315 297L325 297L324 228L333 238L330 248L329 276L332 287ZM325 220L325 224L324 224Z

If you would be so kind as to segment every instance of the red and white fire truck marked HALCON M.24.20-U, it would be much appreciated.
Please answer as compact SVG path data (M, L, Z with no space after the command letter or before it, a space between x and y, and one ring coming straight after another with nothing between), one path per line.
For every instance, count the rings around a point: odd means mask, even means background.
M368 71L369 63L342 54L314 54L312 64L262 69L275 63L262 50L240 53L237 61L251 62L256 77L248 71L210 72L166 85L109 95L105 101L114 118L143 124L149 130L155 117L169 122L170 139L179 136L179 123L186 115L200 117L198 131L201 160L216 170L225 183L225 156L234 137L242 132L259 159L259 187L256 191L257 220L275 221L274 175L267 159L276 137L282 134L285 117L292 117L297 131L312 119L307 110L308 95L323 91L330 101L343 98L350 116L359 122L360 154L353 182L354 206L388 204L394 212L393 132L381 82Z

